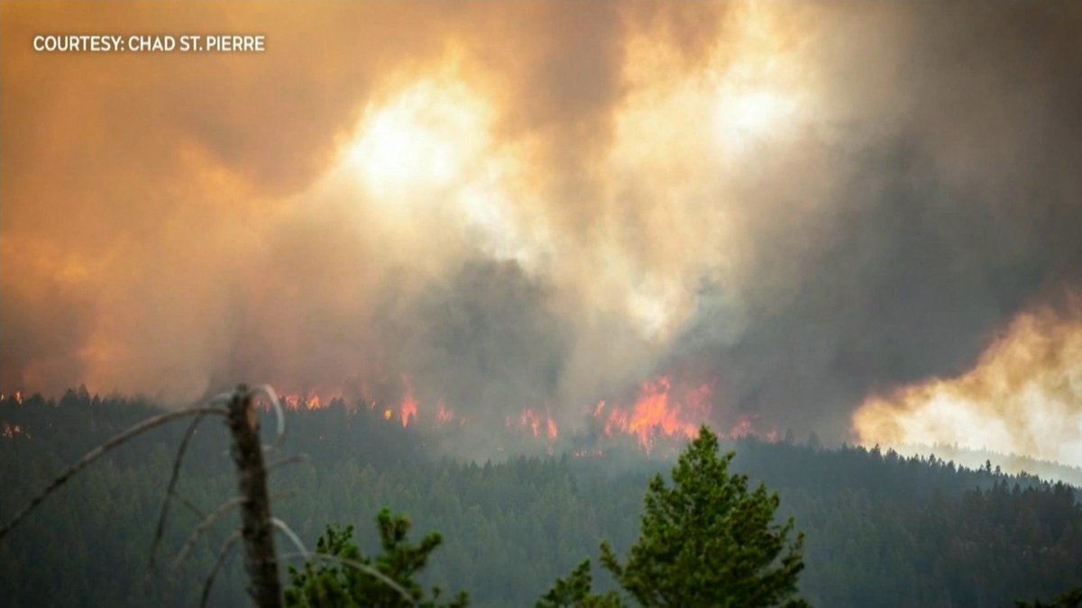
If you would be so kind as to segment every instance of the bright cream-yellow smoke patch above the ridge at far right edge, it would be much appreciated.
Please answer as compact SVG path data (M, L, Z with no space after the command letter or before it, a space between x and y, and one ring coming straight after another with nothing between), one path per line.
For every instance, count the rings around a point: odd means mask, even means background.
M865 445L936 444L1082 465L1082 296L1022 313L966 373L872 396L853 417Z

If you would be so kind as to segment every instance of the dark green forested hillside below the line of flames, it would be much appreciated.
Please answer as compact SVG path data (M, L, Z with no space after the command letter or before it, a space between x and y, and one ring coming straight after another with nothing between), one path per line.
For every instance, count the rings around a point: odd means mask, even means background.
M65 464L154 411L78 393L60 402L0 404L0 519ZM235 491L219 426L197 434L180 484L203 512ZM163 573L151 572L155 520L183 428L121 448L0 543L0 604L196 605L235 520L202 539L169 577L197 520L177 510L158 555ZM450 438L388 423L365 407L291 412L288 434L283 452L269 460L311 459L272 474L272 492L293 491L274 510L306 543L326 524L342 523L356 525L371 545L380 508L406 512L419 533L444 536L426 582L466 590L476 606L532 605L556 577L596 558L602 539L624 551L637 536L648 477L672 465L630 446L461 462L440 455L438 444ZM813 605L1010 606L1082 584L1082 506L1067 486L862 448L754 439L731 448L736 471L777 490L780 514L804 532L801 592ZM213 604L243 600L238 563L219 580Z

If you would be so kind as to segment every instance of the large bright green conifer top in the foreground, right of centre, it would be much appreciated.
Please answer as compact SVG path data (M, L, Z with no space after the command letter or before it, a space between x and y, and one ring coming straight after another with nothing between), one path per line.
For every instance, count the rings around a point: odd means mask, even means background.
M803 606L803 536L789 540L790 518L774 524L777 494L728 472L708 427L681 454L673 486L650 480L641 536L620 564L608 543L602 565L643 606Z

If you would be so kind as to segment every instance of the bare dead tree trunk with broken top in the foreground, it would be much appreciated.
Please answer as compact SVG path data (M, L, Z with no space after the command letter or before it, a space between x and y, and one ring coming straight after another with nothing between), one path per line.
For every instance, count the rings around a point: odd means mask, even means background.
M281 582L278 580L278 559L274 548L260 422L255 404L243 384L237 386L229 401L228 425L233 434L233 462L237 465L240 495L243 497L240 521L248 595L259 608L281 608Z

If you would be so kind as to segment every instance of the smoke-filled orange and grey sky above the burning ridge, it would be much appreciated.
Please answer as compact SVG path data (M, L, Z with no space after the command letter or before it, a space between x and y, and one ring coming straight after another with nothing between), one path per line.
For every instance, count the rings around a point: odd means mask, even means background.
M0 389L582 431L668 379L1082 464L1078 3L0 11ZM71 32L266 51L32 50Z

